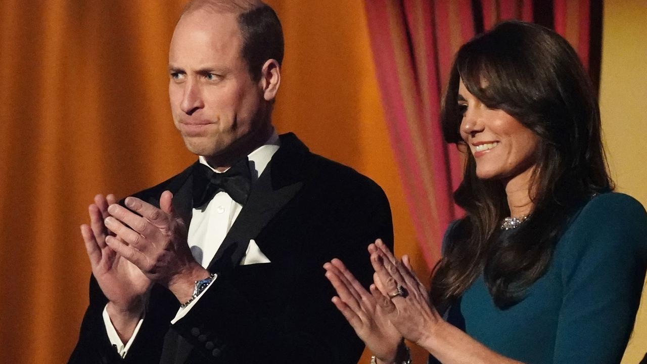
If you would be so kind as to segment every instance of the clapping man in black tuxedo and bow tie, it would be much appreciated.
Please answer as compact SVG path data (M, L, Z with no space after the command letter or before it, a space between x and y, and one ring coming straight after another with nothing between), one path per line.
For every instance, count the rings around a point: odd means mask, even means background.
M98 195L90 205L90 305L70 363L356 363L362 343L331 304L322 266L341 258L367 286L367 245L392 246L388 201L366 177L276 135L282 58L269 6L185 8L169 96L199 161L119 204Z

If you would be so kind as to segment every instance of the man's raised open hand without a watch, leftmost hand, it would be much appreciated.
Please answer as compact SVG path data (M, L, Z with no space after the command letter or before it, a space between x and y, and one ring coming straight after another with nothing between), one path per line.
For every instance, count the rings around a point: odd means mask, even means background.
M81 225L81 234L94 278L109 300L107 310L113 326L120 338L127 341L144 312L144 294L151 281L138 267L106 245L109 233L104 218L109 216L108 205L113 203L115 196L112 194L105 198L100 194L94 196L94 203L88 207L90 225Z

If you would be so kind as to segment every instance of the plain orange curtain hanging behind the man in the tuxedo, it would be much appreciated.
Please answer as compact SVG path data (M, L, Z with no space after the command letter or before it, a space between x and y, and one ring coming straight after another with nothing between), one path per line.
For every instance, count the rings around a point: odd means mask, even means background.
M78 225L94 194L127 196L195 159L167 94L168 43L184 1L0 1L2 363L67 361L87 306ZM363 4L268 3L286 38L278 130L375 179L391 201L397 252L424 274Z

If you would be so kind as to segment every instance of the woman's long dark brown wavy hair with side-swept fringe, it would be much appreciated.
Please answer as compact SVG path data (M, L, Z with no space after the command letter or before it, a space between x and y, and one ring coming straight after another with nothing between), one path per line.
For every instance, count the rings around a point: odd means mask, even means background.
M457 145L465 144L459 80L486 106L512 115L539 137L529 188L534 209L499 241L501 221L510 215L503 183L479 179L465 148L465 175L454 200L467 214L448 233L431 299L444 312L482 272L496 305L507 308L542 277L573 212L594 194L613 190L597 97L569 43L521 21L499 23L459 49L441 111L444 139Z

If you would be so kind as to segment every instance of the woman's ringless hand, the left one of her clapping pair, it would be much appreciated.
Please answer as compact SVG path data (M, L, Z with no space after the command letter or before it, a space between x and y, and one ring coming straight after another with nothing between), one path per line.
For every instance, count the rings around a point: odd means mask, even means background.
M404 344L398 330L389 323L381 305L377 304L376 297L383 299L382 293L375 284L371 284L371 293L368 293L339 259L333 259L323 267L325 277L339 295L333 297L334 305L377 359L393 363Z

